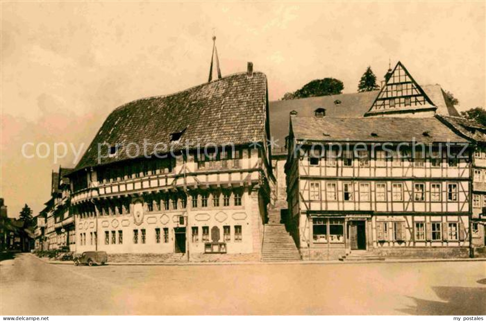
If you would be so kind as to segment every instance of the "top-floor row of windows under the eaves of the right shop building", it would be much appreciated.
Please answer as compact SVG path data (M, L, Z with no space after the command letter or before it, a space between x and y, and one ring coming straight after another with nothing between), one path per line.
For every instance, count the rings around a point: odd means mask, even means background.
M326 150L325 154L322 154L320 151L311 152L309 164L311 166L325 165L335 167L337 162L341 161L343 167L352 167L354 162L357 162L359 167L369 167L371 159L375 160L376 167L386 167L390 162L391 166L401 167L404 160L413 163L416 168L424 168L426 163L430 163L430 166L433 168L440 168L446 161L448 167L457 167L458 164L457 157L443 157L439 152L433 152L432 154L415 152L414 156L412 158L410 153L398 151L376 151L373 155L369 151L358 151L354 155L352 151L344 151L338 154L337 151Z

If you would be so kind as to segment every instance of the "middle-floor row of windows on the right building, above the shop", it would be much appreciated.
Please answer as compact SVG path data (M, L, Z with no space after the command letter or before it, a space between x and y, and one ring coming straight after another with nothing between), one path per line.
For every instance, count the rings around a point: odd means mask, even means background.
M359 184L358 192L354 190L354 184ZM441 183L431 183L430 190L426 191L424 183L415 183L413 190L413 200L417 202L425 201L425 194L430 194L431 202L441 202ZM326 183L326 201L337 201L338 191L337 183ZM357 194L357 195L355 195ZM375 183L375 200L376 202L387 201L386 183ZM359 197L359 200L357 199ZM403 183L393 183L391 192L391 201L399 202L403 201ZM321 183L310 183L310 195L311 201L321 201ZM360 201L369 202L371 200L370 183L343 183L342 200L344 201ZM447 201L457 201L457 183L447 184Z

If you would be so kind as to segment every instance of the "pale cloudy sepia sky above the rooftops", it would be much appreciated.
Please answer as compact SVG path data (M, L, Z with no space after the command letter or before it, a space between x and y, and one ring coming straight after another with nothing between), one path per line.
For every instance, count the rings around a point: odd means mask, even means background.
M117 106L207 81L216 28L224 75L246 62L277 100L334 77L355 92L400 60L419 84L440 84L459 110L485 106L485 2L1 2L1 190L9 217L36 215L52 169L26 142L85 148ZM32 152L32 148L31 148Z

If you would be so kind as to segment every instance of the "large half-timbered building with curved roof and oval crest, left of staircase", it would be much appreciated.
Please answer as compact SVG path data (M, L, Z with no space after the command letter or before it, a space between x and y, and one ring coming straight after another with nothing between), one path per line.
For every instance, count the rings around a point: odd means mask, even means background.
M258 260L275 180L267 104L249 63L115 109L69 175L77 252Z

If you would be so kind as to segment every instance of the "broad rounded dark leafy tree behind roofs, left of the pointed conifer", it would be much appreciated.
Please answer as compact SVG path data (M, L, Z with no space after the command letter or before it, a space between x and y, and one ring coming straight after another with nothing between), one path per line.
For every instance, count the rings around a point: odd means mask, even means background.
M286 93L282 100L339 95L344 89L342 81L334 78L312 80L294 93Z

